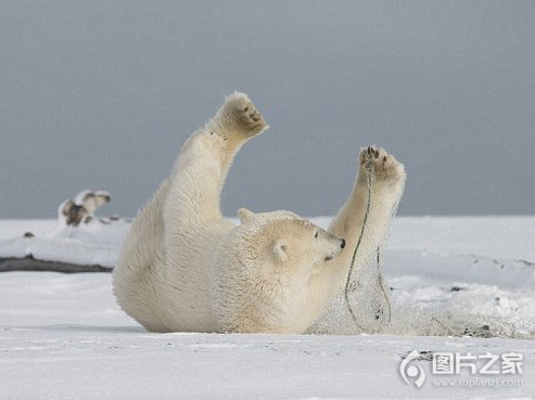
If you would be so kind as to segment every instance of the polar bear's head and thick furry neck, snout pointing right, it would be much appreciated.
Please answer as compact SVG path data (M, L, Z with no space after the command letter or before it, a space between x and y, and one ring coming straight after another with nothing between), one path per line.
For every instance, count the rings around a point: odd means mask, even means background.
M241 224L216 251L212 288L222 331L303 332L321 310L314 276L345 241L290 211L238 211Z

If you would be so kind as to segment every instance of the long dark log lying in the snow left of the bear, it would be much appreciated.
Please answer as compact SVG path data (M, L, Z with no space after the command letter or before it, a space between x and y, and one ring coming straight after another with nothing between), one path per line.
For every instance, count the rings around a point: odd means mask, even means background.
M36 260L26 258L0 258L0 272L8 271L53 271L63 273L75 272L112 272L111 268L102 266L84 266L60 261Z

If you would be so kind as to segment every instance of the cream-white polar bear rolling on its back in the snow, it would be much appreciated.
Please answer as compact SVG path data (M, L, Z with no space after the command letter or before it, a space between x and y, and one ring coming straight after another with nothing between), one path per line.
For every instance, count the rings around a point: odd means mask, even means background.
M360 153L360 173L324 231L290 211L238 210L226 220L219 195L235 153L268 128L234 92L183 144L170 176L141 209L113 271L119 306L154 332L304 333L344 287L366 211L357 262L385 236L405 171L382 149Z

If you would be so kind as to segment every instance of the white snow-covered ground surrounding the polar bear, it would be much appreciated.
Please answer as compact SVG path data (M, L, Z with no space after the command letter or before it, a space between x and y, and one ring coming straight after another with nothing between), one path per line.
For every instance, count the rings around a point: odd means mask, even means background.
M111 267L127 230L0 221L0 258ZM534 217L397 218L384 254L393 321L375 335L152 334L118 309L107 273L2 273L0 399L531 398L534 244ZM329 331L351 332L336 315ZM463 333L479 337L448 336ZM517 352L523 373L434 375L437 352ZM513 386L488 387L501 384Z

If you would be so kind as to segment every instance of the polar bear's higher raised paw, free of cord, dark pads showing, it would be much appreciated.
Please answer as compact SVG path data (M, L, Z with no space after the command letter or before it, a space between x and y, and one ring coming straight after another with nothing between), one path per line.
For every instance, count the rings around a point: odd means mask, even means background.
M245 93L234 92L224 105L225 117L241 133L251 138L268 128L264 117Z

